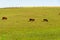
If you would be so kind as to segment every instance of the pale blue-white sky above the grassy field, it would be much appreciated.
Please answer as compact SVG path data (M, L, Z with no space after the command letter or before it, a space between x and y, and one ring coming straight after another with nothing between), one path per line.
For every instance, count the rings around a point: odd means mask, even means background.
M28 6L60 6L60 0L0 0L0 8Z

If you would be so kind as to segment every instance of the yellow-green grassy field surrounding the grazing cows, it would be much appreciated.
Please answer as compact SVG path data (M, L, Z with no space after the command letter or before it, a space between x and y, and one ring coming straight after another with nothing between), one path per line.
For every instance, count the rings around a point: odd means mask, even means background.
M0 40L60 40L59 13L60 7L1 8Z

